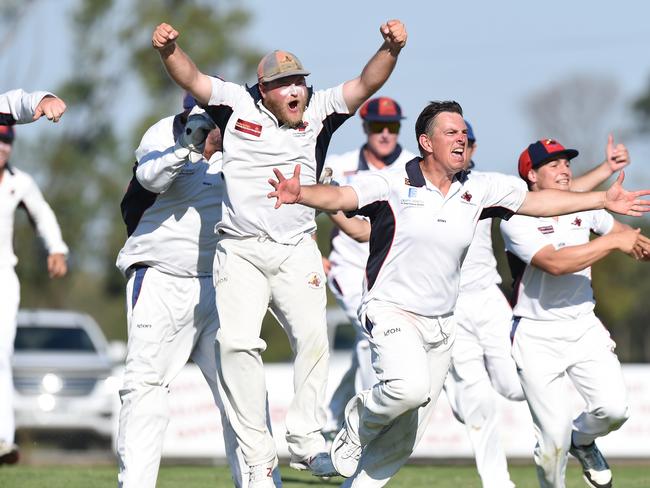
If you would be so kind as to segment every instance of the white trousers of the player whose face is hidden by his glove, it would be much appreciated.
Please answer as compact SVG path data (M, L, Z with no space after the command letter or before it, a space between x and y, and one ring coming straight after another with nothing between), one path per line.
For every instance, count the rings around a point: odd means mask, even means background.
M156 486L169 423L169 384L191 358L222 412L226 455L235 486L245 488L248 470L237 452L217 388L214 341L219 321L212 277L176 277L154 268L138 268L127 282L126 305L128 347L120 390L118 486Z

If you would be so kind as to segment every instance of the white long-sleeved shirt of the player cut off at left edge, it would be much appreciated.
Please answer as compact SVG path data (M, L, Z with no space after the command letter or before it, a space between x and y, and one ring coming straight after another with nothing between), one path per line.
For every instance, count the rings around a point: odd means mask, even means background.
M48 254L68 254L54 212L36 183L24 171L7 166L0 180L0 266L15 266L14 216L22 207L29 214Z

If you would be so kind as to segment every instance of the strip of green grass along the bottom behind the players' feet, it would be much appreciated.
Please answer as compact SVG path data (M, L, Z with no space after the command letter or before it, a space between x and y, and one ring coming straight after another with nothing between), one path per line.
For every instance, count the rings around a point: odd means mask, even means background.
M321 481L309 474L282 468L285 488L333 488L342 478ZM614 465L617 488L650 487L647 465ZM533 466L513 466L513 481L519 488L538 486ZM109 488L117 482L116 468L111 466L4 466L0 467L2 488ZM158 488L229 487L230 474L225 466L163 466ZM406 466L388 484L392 488L480 488L473 466ZM567 488L584 488L582 474L574 464L567 471Z

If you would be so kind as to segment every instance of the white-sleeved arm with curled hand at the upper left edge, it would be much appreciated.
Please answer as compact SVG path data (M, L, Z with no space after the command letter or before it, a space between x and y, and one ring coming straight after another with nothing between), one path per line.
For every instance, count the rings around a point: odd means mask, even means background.
M0 93L0 126L27 124L43 115L52 122L58 122L65 109L65 102L50 92L10 90Z

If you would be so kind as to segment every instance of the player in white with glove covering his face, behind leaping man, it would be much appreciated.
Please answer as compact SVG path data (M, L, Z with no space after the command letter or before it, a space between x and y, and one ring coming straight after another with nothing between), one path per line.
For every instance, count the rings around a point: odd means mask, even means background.
M237 488L244 463L217 388L219 327L212 261L221 218L221 133L191 96L184 111L150 127L122 214L128 239L117 257L127 276L128 348L120 390L118 486L154 488L169 422L169 384L191 358L221 412L226 456ZM190 110L193 112L190 114ZM281 486L280 473L273 476Z

